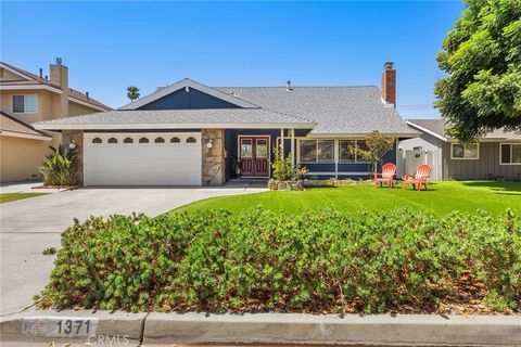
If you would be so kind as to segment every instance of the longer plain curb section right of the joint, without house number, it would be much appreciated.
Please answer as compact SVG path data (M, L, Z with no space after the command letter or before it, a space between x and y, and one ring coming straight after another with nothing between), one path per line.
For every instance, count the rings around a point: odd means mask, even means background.
M520 346L521 317L150 313L143 344Z

